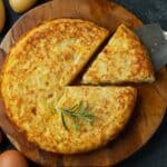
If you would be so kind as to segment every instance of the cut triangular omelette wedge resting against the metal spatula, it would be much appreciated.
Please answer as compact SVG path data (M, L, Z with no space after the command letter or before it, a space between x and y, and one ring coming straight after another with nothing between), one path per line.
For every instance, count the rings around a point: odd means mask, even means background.
M82 82L97 85L154 80L146 48L129 28L121 24L85 73Z

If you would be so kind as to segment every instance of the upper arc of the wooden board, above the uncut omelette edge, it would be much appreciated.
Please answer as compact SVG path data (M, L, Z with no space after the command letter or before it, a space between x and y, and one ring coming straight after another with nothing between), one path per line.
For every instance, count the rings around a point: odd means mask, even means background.
M122 7L106 0L53 0L23 14L7 33L1 43L6 52L24 32L43 21L56 18L80 18L108 28L111 32L125 22L130 28L141 21Z

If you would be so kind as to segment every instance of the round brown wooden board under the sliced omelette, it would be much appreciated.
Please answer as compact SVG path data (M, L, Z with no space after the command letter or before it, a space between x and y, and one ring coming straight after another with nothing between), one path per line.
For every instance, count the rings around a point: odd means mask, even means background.
M1 43L6 53L31 28L56 18L80 18L106 27L112 33L121 23L136 28L141 21L122 7L106 0L55 0L26 13L8 32ZM0 52L0 67L4 53ZM106 147L81 155L53 155L27 141L8 120L0 102L0 125L11 143L28 158L42 166L112 166L138 150L160 125L167 108L167 69L156 73L153 85L137 85L138 100L134 115L120 136ZM1 100L0 100L1 101ZM40 125L39 125L40 126Z

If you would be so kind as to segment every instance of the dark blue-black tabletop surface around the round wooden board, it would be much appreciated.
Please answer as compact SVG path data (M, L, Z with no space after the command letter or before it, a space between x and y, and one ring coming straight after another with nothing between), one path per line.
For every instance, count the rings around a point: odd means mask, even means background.
M20 17L16 14L6 1L6 29L0 35L0 41ZM115 0L137 14L145 23L164 22L167 24L167 0ZM45 0L39 0L39 3ZM167 27L166 27L167 29ZM0 144L0 151L12 148L8 140ZM32 166L32 165L30 165ZM138 153L118 165L119 167L167 167L167 115L154 137Z

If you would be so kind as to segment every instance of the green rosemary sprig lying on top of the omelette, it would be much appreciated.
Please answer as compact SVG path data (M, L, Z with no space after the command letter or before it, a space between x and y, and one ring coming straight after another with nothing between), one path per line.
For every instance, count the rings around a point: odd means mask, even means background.
M79 119L84 119L89 121L92 125L94 115L86 112L88 109L88 104L80 101L79 104L72 106L71 108L57 108L57 111L61 115L61 121L66 130L68 130L68 126L66 124L65 115L69 116L73 119L75 128L78 130L80 128Z

